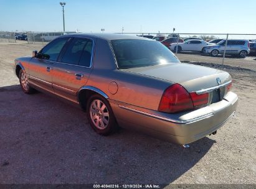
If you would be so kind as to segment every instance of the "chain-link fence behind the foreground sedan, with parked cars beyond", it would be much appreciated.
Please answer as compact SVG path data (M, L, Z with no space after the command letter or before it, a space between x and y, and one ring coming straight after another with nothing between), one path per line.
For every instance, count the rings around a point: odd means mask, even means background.
M75 32L0 32L0 42L36 44L44 47L56 37ZM121 34L121 33L119 33ZM192 34L192 33L123 33L159 40L166 45L181 62L212 63L255 70L256 34ZM201 42L198 42L201 40Z

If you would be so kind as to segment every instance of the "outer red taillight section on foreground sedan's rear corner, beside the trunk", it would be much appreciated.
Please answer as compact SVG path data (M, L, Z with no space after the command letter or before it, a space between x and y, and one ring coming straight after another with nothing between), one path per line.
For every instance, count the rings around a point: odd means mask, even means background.
M193 108L189 93L179 84L169 86L161 98L158 110L166 113L176 113Z

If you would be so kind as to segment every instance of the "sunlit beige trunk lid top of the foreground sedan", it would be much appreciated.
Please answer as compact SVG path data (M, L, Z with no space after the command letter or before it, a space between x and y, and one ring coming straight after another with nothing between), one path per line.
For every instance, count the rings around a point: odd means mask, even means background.
M225 71L188 63L170 63L152 67L130 68L124 71L168 80L171 83L179 83L189 92L217 86L219 85L217 78L220 78L221 83L231 80L229 73Z

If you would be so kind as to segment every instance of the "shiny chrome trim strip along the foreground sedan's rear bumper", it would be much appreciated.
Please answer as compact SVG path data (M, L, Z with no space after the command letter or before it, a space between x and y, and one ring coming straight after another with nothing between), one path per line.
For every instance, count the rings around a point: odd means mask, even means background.
M140 111L140 110L137 110L137 109L132 109L132 108L128 108L126 106L121 106L121 105L118 105L120 108L122 109L126 109L126 110L129 110L129 111L133 111L135 113L139 113L139 114L143 114L145 116L149 116L151 118L156 118L156 119L161 119L163 121L169 121L169 122L175 122L175 123L178 123L178 124L188 124L188 123L192 123L192 122L197 122L197 121L200 121L202 119L206 119L206 118L210 118L211 116L213 116L214 114L213 113L208 113L208 114L205 114L203 116L199 116L197 118L193 118L193 119L187 119L187 120L176 120L176 119L169 119L169 118L164 118L162 116L157 116L157 115L154 115L154 114L149 114L149 113L145 113L143 111Z

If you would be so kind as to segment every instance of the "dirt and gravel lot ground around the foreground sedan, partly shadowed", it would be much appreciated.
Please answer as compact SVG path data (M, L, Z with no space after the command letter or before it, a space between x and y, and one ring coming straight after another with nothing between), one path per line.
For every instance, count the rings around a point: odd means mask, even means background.
M40 47L0 44L0 183L256 183L255 60L222 68L239 95L237 113L183 149L125 129L98 136L80 109L22 93L13 60Z

